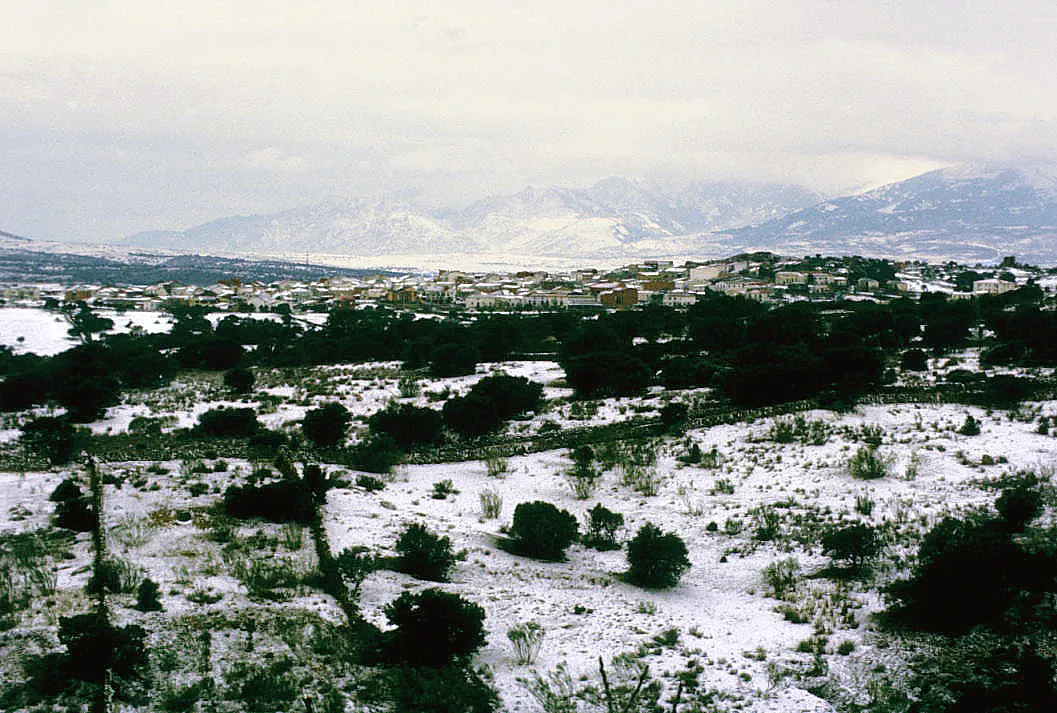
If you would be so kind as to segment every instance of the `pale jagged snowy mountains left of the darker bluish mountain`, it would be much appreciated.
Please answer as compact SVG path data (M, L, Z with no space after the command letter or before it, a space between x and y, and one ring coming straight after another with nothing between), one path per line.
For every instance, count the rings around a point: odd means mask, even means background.
M589 188L526 188L462 210L395 200L324 203L272 215L224 218L184 231L145 232L131 245L256 254L349 256L502 252L562 257L684 252L687 236L731 229L809 206L796 186L608 179ZM645 245L644 245L645 243Z

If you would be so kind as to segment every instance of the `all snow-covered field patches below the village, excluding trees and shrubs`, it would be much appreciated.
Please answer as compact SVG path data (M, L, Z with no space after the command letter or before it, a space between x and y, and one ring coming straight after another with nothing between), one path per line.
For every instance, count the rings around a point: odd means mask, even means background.
M71 345L68 325L54 314L2 309L0 316L2 343L17 352L53 354ZM163 315L105 316L122 330L167 327ZM973 369L975 359L964 353L932 365L934 371ZM90 428L122 433L134 417L151 416L164 419L168 431L192 426L207 409L228 405L252 406L268 428L294 432L304 413L321 402L340 401L355 417L393 401L439 408L446 395L465 393L497 372L542 383L548 399L541 413L508 425L511 434L536 433L548 424L565 429L652 416L666 398L700 396L654 392L576 402L558 364L523 361L481 364L471 376L422 378L415 384L418 395L402 396L398 362L376 362L256 370L257 389L243 399L233 399L218 375L183 375L168 388L127 394ZM979 435L959 432L967 415L980 421ZM344 483L328 493L324 529L335 555L367 547L392 557L396 538L412 523L450 538L460 559L451 581L439 586L485 609L488 638L477 660L490 671L503 711L542 710L523 683L534 672L546 677L563 665L578 684L597 682L598 657L616 675L610 661L620 655L647 664L666 695L674 693L681 676L692 678L698 687L693 695L700 700L707 696L712 706L707 710L830 711L830 703L804 690L809 683L823 676L854 696L867 672L878 665L900 667L891 637L874 628L871 614L884 606L877 590L905 574L906 558L921 536L945 514L991 502L994 490L982 487L988 481L1019 471L1052 473L1057 438L1037 432L1041 416L1057 416L1057 402L1026 404L1014 412L922 405L860 407L843 414L814 411L799 415L812 437L790 443L777 443L775 434L779 426L793 421L792 416L692 430L653 444L649 488L632 483L616 466L605 470L586 500L575 496L565 477L572 462L564 450L511 457L498 476L489 475L481 461L398 466L378 491L356 486L359 473L324 464L328 474ZM355 421L350 443L365 429L361 418ZM0 431L0 440L17 435L17 429L8 428ZM853 479L850 458L877 440L887 475ZM693 445L707 457L689 465L685 456ZM131 607L133 595L124 594L114 598L115 619L142 623L151 632L152 646L171 648L191 658L189 652L198 645L193 636L205 627L211 632L209 665L218 678L230 673L222 661L261 662L271 656L297 659L303 675L310 676L318 659L305 653L311 646L302 639L314 640L344 618L317 587L291 584L276 598L274 592L255 589L255 567L262 561L305 576L314 571L318 562L303 528L257 522L231 526L215 514L225 488L270 467L215 457L101 465L111 552L128 564L130 582L149 577L161 585L165 607L164 614L136 612ZM44 531L55 507L49 494L68 476L85 480L79 468L0 472L0 534ZM450 482L453 492L434 498L437 484L444 482ZM484 517L485 492L501 499L498 518ZM537 500L568 509L581 530L587 511L596 504L619 512L625 518L619 538L624 542L642 525L653 523L686 542L691 567L676 587L646 590L623 580L627 562L622 549L597 551L574 544L563 562L505 551L499 543L514 509ZM885 564L868 581L838 584L812 577L828 564L818 543L820 532L850 521L875 525L884 533ZM54 574L52 595L19 613L16 626L6 638L0 637L0 646L19 634L33 639L37 635L31 633L54 627L60 616L87 608L88 536L76 536L48 558L45 568ZM793 590L779 599L764 573L768 565L791 559L800 575ZM385 627L386 604L404 592L431 586L438 585L382 569L366 579L359 601L367 619ZM291 634L284 621L299 622L300 634ZM506 636L526 622L537 622L544 631L531 664L517 662ZM821 674L813 671L813 652L819 645ZM8 658L0 664L0 676L15 675L15 657ZM180 680L178 676L163 688Z

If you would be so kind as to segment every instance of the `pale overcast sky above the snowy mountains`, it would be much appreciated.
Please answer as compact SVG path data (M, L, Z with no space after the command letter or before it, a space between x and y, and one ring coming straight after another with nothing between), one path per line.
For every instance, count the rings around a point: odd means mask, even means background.
M1052 0L0 0L0 230L1057 164Z

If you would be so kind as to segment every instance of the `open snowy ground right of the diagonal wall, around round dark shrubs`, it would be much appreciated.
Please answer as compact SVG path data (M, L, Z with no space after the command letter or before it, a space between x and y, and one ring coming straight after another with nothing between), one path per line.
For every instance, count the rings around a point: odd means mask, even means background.
M1046 408L1052 410L1052 405ZM787 532L798 527L798 518L813 513L821 522L859 519L890 523L897 532L921 532L925 523L993 496L973 487L972 481L1038 468L1057 451L1057 442L1035 434L1030 424L969 411L984 423L979 436L954 431L967 413L964 408L913 406L866 408L839 417L812 414L834 431L821 446L761 443L758 438L768 428L763 421L691 432L689 437L703 450L717 448L722 465L683 466L672 452L683 446L669 442L662 448L661 487L653 496L622 485L620 474L610 471L594 496L578 501L562 476L571 466L564 452L511 458L507 474L500 479L488 477L480 463L404 467L396 482L378 493L333 491L327 506L328 529L336 551L366 545L391 553L395 533L409 523L422 522L451 538L456 550L466 552L446 588L479 602L487 612L489 638L481 660L496 672L506 710L539 710L518 682L530 669L515 664L505 636L512 626L532 620L546 630L535 664L540 671L567 662L574 678L592 677L599 655L608 660L649 645L654 636L674 628L680 633L678 644L644 659L651 670L678 672L697 659L705 665L702 684L744 700L747 710L827 710L789 681L774 681L768 662L793 667L798 657L808 658L794 653L797 644L812 636L816 616L826 619L821 614L826 602L839 601L839 596L824 581L812 580L801 584L803 598L819 602L808 614L809 623L790 623L775 613L779 602L765 596L764 567L795 557L810 571L826 560L817 532L809 534L815 544L806 547L787 537L755 540L759 508L777 508L781 529ZM864 425L878 425L885 433L880 452L891 458L888 477L855 481L847 472L845 464L861 445L854 434ZM1004 456L1008 463L978 465L986 461L985 454L993 461ZM450 480L459 494L433 500L433 484L443 480ZM481 515L479 496L484 490L496 490L503 498L498 520ZM874 504L869 517L856 512L857 499ZM674 589L647 592L620 581L617 575L627 564L619 550L597 552L574 545L562 563L503 551L497 546L501 526L509 523L518 503L535 500L569 509L581 523L586 511L601 503L625 515L626 537L652 522L685 539L692 567ZM741 529L736 531L731 522L740 522ZM718 529L711 531L709 523ZM906 543L892 545L893 553L905 555L905 548ZM425 586L431 585L377 573L365 585L364 605L373 620L384 624L385 603L408 587ZM860 607L854 609L852 625L826 620L830 627L840 624L830 635L831 649L843 641L855 643L851 656L833 657L832 665L838 670L876 653L867 615L882 603L868 590L853 593L851 599Z

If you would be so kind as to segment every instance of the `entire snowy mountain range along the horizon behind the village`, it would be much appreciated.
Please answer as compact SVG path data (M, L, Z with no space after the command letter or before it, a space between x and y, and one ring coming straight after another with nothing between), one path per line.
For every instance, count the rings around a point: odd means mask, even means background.
M32 249L24 239L0 234ZM512 264L520 257L530 264L771 250L963 263L1016 256L1050 265L1057 263L1057 173L945 168L829 199L793 185L613 177L587 188L525 188L460 209L426 209L393 198L328 200L182 231L142 232L119 243L126 250L311 255L344 264L389 256L393 264L435 266L439 256L504 256Z

